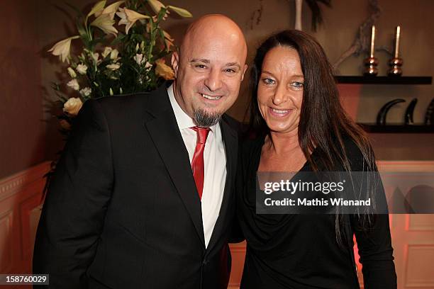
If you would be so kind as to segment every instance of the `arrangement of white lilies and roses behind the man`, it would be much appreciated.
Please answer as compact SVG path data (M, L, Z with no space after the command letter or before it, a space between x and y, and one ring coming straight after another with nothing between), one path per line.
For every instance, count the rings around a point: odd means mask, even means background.
M72 7L74 8L74 7ZM57 42L48 52L66 62L66 89L53 83L62 106L60 132L67 138L74 118L89 98L152 91L174 72L165 58L174 51L173 38L160 27L169 13L191 17L184 8L165 6L158 0L99 1L87 14L77 12L77 35ZM81 40L79 52L72 42ZM75 44L75 43L74 43ZM75 48L75 45L74 45ZM75 49L74 49L75 51ZM52 162L44 193L55 169Z

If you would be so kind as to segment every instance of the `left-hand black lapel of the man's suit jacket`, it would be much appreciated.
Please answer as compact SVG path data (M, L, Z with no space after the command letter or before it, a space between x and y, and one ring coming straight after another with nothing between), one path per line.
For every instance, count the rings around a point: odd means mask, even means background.
M189 154L182 140L165 86L149 95L145 108L145 128L157 148L167 171L177 188L196 232L205 246L201 200L196 190L189 164Z

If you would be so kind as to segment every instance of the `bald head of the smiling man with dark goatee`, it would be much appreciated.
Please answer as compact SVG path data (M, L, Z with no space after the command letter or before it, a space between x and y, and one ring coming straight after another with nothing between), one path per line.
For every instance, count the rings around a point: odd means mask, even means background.
M247 65L247 45L230 18L211 14L191 23L172 55L174 96L196 125L208 127L233 105Z

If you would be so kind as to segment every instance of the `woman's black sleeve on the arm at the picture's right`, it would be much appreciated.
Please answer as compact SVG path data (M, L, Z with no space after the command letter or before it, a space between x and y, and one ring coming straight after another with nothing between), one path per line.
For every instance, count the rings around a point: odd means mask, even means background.
M351 143L347 145L352 171L366 171L365 159L360 149ZM376 179L374 185L377 205L384 208L386 197L377 168L370 174ZM382 203L382 204L380 204ZM394 249L391 246L389 215L372 215L370 224L362 217L351 215L351 226L357 240L363 283L366 289L396 289Z

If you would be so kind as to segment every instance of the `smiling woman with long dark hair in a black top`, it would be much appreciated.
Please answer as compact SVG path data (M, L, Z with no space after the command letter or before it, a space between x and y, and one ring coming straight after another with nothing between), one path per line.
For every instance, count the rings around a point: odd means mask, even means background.
M321 46L298 30L272 35L257 50L251 84L256 138L242 146L238 178L247 240L241 288L359 288L353 234L365 288L396 288L388 215L256 213L257 172L377 171ZM384 198L381 184L370 192Z

